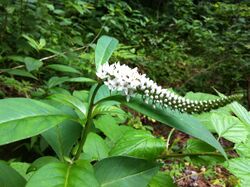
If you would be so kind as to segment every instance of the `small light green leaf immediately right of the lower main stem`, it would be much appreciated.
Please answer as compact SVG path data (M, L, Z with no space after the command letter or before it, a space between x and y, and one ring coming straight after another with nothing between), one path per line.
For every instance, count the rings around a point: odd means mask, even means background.
M83 156L87 154L91 161L108 157L109 147L105 141L95 133L89 133L83 146Z

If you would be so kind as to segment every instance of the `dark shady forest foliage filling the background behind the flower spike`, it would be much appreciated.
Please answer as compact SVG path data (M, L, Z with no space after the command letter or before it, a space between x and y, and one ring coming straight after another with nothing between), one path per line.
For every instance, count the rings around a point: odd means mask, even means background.
M10 94L5 89L27 95L44 84L32 80L31 89L30 78L91 76L100 34L119 38L113 60L139 66L180 92L246 88L250 10L244 1L3 0L0 9L2 95ZM44 58L50 55L57 57Z

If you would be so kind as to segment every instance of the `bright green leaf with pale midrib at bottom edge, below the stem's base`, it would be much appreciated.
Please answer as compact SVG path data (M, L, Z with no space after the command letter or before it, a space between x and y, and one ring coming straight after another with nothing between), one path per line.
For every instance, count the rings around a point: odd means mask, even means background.
M26 187L99 187L94 171L87 161L75 164L49 163L30 178Z

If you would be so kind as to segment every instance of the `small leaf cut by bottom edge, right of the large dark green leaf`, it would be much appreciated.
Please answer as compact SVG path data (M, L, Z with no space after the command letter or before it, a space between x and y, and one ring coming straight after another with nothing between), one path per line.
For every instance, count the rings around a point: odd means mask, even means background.
M149 187L177 187L173 179L164 172L158 172L150 181Z

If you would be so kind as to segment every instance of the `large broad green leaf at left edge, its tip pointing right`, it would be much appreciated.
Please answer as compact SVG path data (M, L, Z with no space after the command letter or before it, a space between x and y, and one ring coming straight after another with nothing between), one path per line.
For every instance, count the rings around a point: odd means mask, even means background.
M71 116L40 101L0 100L0 145L38 135Z

